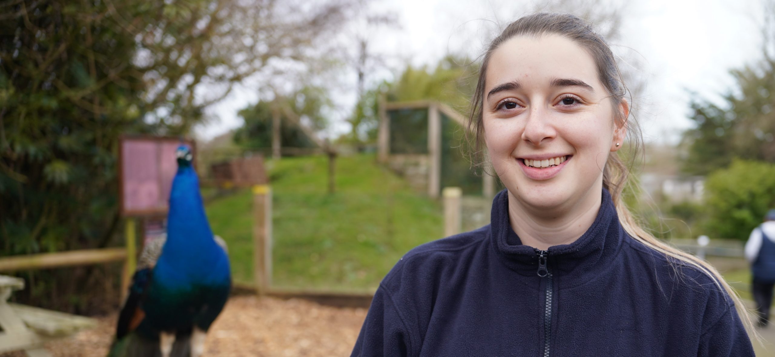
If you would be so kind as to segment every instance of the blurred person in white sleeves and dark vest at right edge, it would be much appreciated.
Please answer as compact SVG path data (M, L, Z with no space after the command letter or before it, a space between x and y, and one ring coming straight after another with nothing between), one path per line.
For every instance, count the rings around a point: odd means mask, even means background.
M764 223L751 232L746 242L746 259L751 262L751 290L756 302L760 328L770 323L770 305L775 286L775 210L769 210Z

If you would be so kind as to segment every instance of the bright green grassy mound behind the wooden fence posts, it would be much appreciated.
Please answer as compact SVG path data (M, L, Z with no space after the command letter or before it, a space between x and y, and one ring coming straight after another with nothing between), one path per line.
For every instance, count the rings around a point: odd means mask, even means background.
M273 286L375 288L411 248L443 234L439 203L375 164L373 154L336 159L327 193L323 156L267 161L273 191ZM229 243L236 282L253 282L252 195L207 205L215 234Z

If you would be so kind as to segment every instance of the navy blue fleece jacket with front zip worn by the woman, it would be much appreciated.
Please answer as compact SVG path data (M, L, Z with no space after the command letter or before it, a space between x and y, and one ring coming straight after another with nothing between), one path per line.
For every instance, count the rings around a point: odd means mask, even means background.
M490 225L401 258L377 289L352 355L753 355L714 280L629 237L602 195L589 230L541 258L519 241L508 193L498 193Z

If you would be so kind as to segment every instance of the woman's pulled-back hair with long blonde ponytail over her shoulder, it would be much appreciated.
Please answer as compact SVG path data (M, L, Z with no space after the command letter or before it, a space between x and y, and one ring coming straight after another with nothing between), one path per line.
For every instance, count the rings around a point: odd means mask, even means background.
M536 13L516 20L509 24L498 37L495 37L495 39L492 40L487 51L484 53L484 59L481 64L481 70L477 81L477 88L471 99L471 111L468 122L469 130L467 130L469 133L474 133L474 154L482 153L483 150L481 149L485 146L484 138L482 136L484 133L484 124L482 123L484 78L487 72L487 63L489 62L492 53L494 50L498 49L501 43L504 43L512 37L543 36L546 34L564 36L569 40L573 40L580 47L584 48L584 50L587 50L587 53L591 54L598 69L598 79L608 90L608 98L613 101L615 110L614 118L618 121L619 127L626 127L629 137L628 142L632 147L632 151L634 151L632 157L636 157L634 153L642 148L642 133L639 130L635 118L629 116L629 114L625 115L625 113L622 113L621 106L619 105L623 101L626 101L625 95L629 91L622 79L622 73L618 69L611 48L608 47L608 43L605 42L602 36L595 33L591 25L584 19L580 19L579 17L570 14L556 13ZM478 159L481 161L481 157ZM753 321L748 310L746 310L746 307L743 305L742 300L712 265L694 255L660 241L640 227L622 200L622 191L631 183L629 182L629 172L630 170L627 165L619 158L618 152L613 152L608 155L608 161L603 169L603 187L608 189L608 192L611 193L611 199L613 199L616 206L616 212L618 213L619 221L624 230L631 237L642 244L645 244L647 247L666 255L669 257L669 260L672 258L673 261L684 262L710 276L715 281L718 289L723 289L729 294L732 300L734 300L735 307L738 310L743 324L746 325L746 328L753 332L757 339L760 339L759 334L757 334L756 330L753 328ZM675 268L675 265L673 265L673 268Z

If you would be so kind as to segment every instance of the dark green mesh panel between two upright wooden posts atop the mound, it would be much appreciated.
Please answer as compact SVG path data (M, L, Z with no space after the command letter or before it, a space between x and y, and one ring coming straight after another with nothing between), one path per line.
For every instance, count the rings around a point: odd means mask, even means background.
M387 111L391 154L428 154L428 109Z

